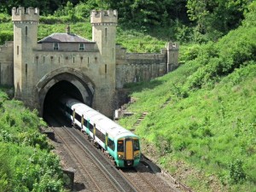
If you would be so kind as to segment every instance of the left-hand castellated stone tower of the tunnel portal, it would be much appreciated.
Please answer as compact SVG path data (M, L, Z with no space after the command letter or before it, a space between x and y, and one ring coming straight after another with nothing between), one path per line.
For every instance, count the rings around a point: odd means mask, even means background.
M15 98L29 103L33 89L32 74L35 69L32 53L38 44L39 9L13 8L12 20L14 23Z

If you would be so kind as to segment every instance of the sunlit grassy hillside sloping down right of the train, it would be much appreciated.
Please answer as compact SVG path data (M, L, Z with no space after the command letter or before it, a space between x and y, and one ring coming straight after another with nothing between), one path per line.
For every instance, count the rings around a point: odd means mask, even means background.
M254 15L254 16L253 16ZM255 191L256 26L182 49L185 64L149 83L127 84L136 102L119 123L143 153L195 191ZM138 117L147 112L141 124Z

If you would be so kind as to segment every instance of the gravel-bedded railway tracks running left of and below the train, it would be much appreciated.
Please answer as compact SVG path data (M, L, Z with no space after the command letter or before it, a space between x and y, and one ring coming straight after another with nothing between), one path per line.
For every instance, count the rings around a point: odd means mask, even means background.
M79 172L82 177L83 191L178 191L150 172L142 163L136 169L117 169L81 131L66 126L60 127L60 123L54 122L53 119L50 121L56 137L62 143L62 148L65 148L76 167L76 174Z

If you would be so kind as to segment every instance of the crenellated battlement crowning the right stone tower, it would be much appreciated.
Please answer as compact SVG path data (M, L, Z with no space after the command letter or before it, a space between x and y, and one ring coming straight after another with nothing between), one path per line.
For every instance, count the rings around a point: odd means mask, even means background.
M117 23L118 12L117 10L92 10L90 12L90 23Z

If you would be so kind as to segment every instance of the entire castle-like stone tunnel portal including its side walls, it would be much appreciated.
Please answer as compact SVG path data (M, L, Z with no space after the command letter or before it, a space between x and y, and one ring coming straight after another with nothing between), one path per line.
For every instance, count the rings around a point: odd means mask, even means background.
M178 44L160 53L127 53L115 43L116 10L92 10L92 40L66 32L38 41L39 9L12 9L14 41L0 45L0 85L14 86L16 99L43 115L45 106L72 96L113 116L124 84L160 77L178 66Z

